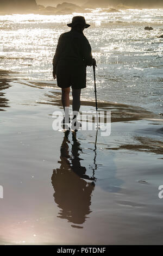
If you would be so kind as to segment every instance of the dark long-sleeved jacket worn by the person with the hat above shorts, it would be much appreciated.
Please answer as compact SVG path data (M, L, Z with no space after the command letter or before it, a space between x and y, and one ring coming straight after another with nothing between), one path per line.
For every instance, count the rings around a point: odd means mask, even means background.
M86 37L71 29L60 35L57 49L53 58L53 70L56 72L57 65L59 66L92 66L93 59L91 46Z

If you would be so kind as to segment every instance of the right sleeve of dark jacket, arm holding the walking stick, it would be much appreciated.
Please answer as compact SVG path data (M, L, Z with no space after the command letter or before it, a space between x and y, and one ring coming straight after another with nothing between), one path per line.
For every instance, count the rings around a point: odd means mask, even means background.
M83 55L85 65L92 66L93 65L92 49L89 44L89 41L86 39L85 36L82 40L82 55Z

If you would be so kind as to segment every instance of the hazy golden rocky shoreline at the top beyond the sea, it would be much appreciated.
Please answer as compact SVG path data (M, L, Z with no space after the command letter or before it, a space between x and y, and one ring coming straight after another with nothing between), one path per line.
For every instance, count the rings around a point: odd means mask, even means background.
M4 14L41 14L41 15L66 15L73 13L91 13L93 9L99 8L99 12L106 13L120 13L123 10L135 9L129 5L118 4L114 8L109 8L106 5L93 4L91 1L83 5L77 5L68 2L62 2L54 6L40 5L36 0L1 0L0 2L0 15Z

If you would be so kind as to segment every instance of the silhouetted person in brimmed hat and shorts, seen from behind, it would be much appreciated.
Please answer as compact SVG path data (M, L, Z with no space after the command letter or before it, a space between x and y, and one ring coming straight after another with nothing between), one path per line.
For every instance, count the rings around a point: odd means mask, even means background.
M86 66L96 65L96 60L92 58L91 46L83 34L84 29L90 27L85 18L74 16L67 26L71 27L71 31L60 35L53 58L53 78L57 78L57 85L62 89L61 101L65 111L62 124L70 123L72 87L73 124L79 128L81 124L77 121L77 114L80 109L81 89L86 87Z

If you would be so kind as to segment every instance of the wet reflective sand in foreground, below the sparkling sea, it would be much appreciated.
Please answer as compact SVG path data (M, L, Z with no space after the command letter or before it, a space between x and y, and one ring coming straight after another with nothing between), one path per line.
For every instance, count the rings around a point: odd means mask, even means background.
M0 244L162 244L163 120L98 106L111 110L110 136L54 131L60 90L1 71ZM95 102L82 101L84 110Z

